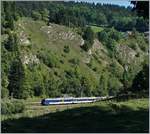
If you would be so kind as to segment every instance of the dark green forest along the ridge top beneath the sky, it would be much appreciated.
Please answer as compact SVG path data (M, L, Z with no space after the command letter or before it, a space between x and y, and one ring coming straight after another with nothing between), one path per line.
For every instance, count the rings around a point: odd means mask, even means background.
M10 5L9 2L3 3L4 10L2 10L2 14L6 12L5 16L9 20L7 23L13 22L12 18L17 18L19 14L20 16L42 19L46 23L49 21L69 27L84 27L86 24L96 24L98 26L114 26L121 31L131 30L133 27L139 31L148 30L147 20L137 20L136 22L138 17L136 18L135 14L131 12L131 8L116 5L93 5L84 2L82 4L78 2L15 2L15 4ZM5 7L7 5L9 7L6 11ZM15 14L8 12L14 11L13 8L17 11ZM10 14L12 17L8 18L7 16L10 16ZM144 29L140 27L144 27Z

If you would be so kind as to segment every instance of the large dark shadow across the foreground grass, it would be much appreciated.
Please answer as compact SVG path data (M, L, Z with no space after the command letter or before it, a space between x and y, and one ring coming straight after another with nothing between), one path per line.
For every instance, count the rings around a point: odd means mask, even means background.
M127 106L81 107L34 118L2 121L2 132L148 132L149 111Z

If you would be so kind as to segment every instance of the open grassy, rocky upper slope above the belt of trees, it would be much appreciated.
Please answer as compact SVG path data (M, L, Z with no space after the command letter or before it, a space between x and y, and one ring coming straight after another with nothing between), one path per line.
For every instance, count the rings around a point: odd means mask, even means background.
M30 69L32 65L35 67L41 66L42 69L40 71L37 68L35 71L38 71L42 77L44 75L46 77L47 73L52 72L58 79L65 76L65 72L75 70L78 71L79 75L92 81L91 86L93 86L93 90L95 90L96 85L98 86L102 73L107 72L108 75L112 75L109 69L112 61L116 65L115 71L121 75L124 68L118 62L119 58L121 61L128 60L129 66L132 63L132 67L136 68L143 62L143 56L145 55L139 46L136 48L139 52L135 51L128 44L122 43L124 42L124 39L122 39L117 46L118 59L113 60L109 56L107 48L96 38L88 52L82 50L81 46L84 44L84 40L72 28L52 23L46 26L44 22L33 21L29 18L18 21L16 27L20 40L20 56L22 63L27 67L28 75L33 73L33 70ZM130 39L126 42L130 44L132 40ZM134 41L136 40L134 39ZM65 52L65 47L69 48L69 52ZM140 53L138 57L136 57L137 53ZM47 58L49 61L46 61L44 58ZM133 65L133 61L135 65ZM29 77L31 78L31 76ZM122 86L120 82L121 77L116 77L115 81L118 82L117 88L120 88Z

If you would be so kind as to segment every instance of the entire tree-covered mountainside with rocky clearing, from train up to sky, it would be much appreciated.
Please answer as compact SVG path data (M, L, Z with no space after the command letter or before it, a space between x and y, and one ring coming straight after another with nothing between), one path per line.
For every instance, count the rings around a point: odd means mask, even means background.
M131 7L18 1L1 11L2 98L148 92L148 19Z

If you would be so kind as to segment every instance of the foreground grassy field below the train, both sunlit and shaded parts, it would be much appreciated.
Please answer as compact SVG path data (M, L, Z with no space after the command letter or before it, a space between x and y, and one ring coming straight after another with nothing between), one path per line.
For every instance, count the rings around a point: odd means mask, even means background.
M2 132L148 132L148 99L57 106L27 104L24 114L2 121Z

